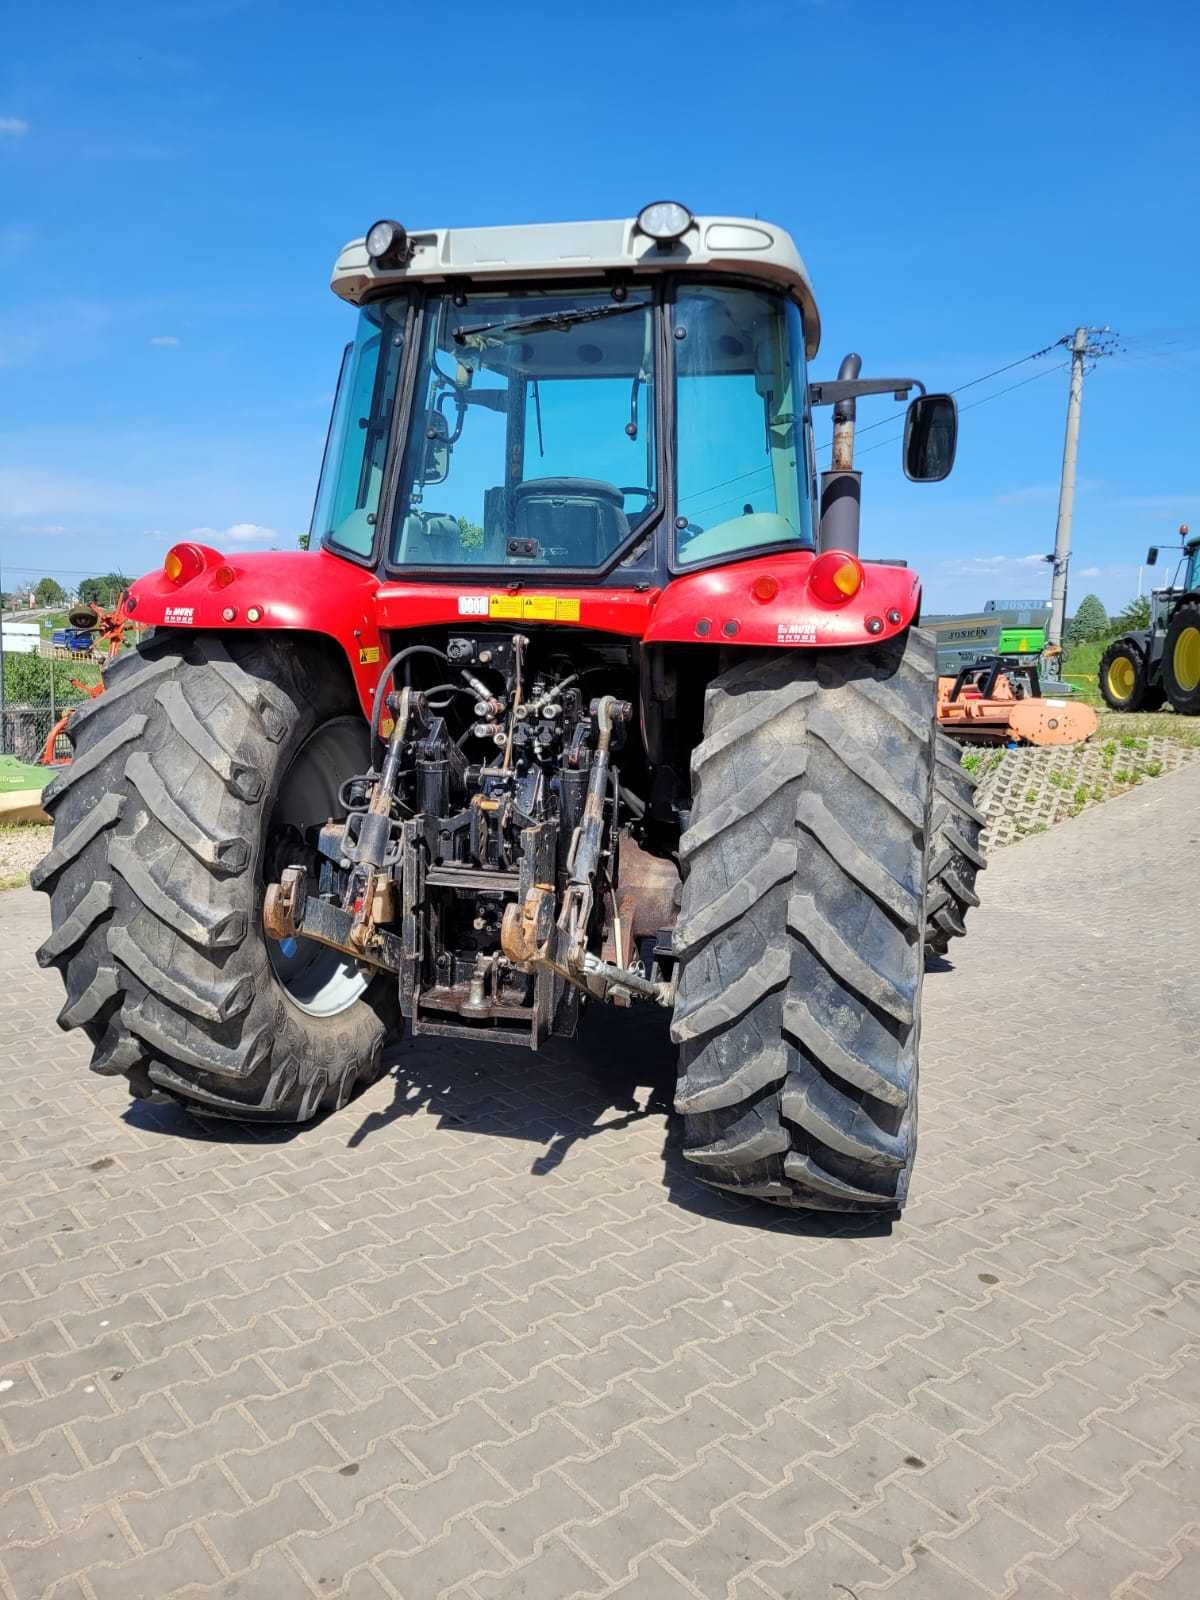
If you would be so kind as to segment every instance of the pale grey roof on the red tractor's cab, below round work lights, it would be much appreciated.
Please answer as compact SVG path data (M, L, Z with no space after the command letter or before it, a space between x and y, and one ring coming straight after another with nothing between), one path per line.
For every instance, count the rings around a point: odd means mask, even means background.
M366 254L366 238L352 238L333 267L331 288L358 306L405 283L470 278L485 285L507 278L594 277L597 272L730 272L784 288L805 314L810 360L821 344L813 282L790 234L774 222L744 216L694 216L682 238L658 243L637 218L603 222L530 222L517 227L434 227L408 234L410 254L381 267Z

